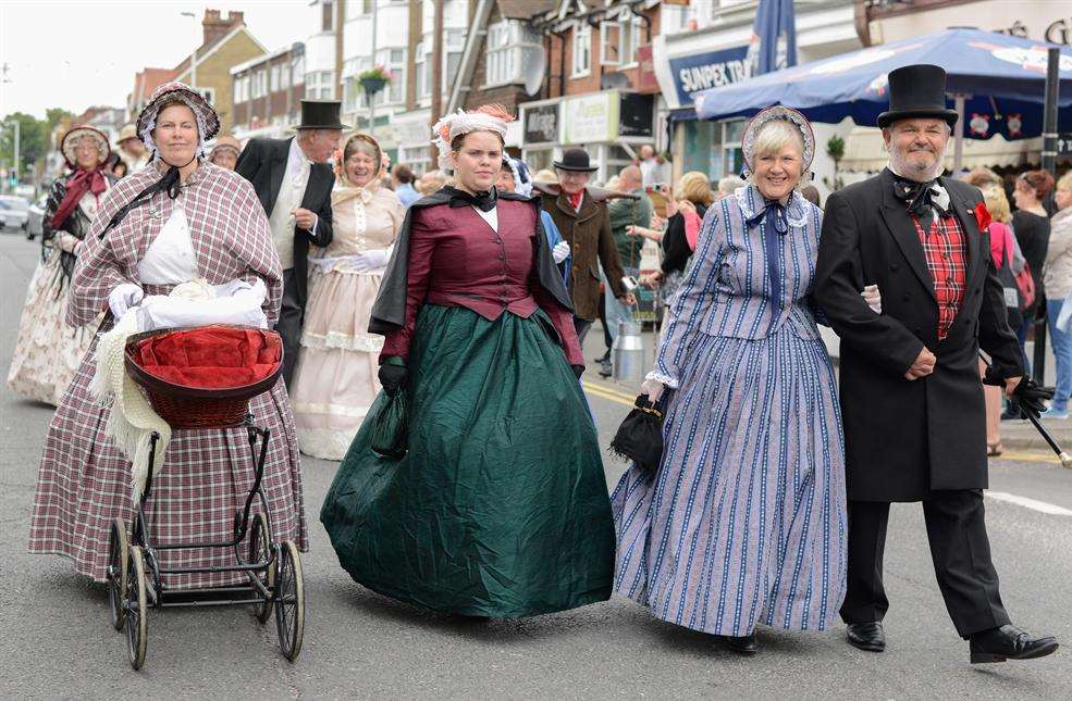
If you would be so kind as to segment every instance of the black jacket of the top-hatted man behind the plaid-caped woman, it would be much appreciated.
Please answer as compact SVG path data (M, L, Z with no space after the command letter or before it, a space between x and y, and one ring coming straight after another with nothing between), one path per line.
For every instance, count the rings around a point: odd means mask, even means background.
M269 218L283 184L289 150L291 139L250 139L235 165L235 172L252 184L257 198L264 206L264 215ZM331 243L331 188L334 184L335 175L330 165L317 163L312 166L301 206L317 215L317 234L313 236L310 231L294 227L294 279L298 302L303 308L308 287L309 245L323 248Z

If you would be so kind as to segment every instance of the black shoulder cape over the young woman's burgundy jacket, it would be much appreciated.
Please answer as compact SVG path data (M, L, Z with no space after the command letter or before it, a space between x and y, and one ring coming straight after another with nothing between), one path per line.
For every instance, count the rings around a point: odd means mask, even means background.
M572 312L574 305L569 301L569 291L566 289L562 273L551 255L547 236L543 230L543 217L540 216L540 198L500 192L498 199L528 202L537 210L537 272L540 274L540 284L555 298L555 301ZM392 252L383 274L380 293L377 295L375 303L372 305L372 318L369 322L370 334L383 335L398 330L406 325L406 297L409 292L409 233L412 228L414 216L420 210L447 205L449 201L449 195L440 190L417 200L406 211L406 218L398 231L394 252Z

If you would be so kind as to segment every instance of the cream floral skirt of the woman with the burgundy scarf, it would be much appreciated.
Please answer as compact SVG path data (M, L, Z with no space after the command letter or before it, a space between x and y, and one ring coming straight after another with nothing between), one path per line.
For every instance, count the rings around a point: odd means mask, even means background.
M60 258L59 251L52 251L34 271L8 370L11 391L53 406L74 379L98 326L67 326L71 286L63 276Z

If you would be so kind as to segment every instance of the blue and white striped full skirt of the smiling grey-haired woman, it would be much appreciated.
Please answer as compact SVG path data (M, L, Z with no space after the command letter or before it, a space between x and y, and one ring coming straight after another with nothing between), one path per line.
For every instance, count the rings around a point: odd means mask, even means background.
M698 335L656 473L612 495L615 589L663 621L744 636L818 629L846 588L841 417L822 341Z

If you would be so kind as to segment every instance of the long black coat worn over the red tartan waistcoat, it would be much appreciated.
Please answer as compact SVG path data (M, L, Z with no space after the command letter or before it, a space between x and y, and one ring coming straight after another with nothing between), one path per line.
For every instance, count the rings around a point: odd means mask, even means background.
M840 389L848 496L861 501L916 501L934 489L987 485L986 420L978 349L1002 377L1023 374L1005 298L974 210L978 189L941 178L964 228L964 300L938 341L938 304L923 246L892 174L830 195L815 270L815 299L841 337ZM882 314L860 297L878 285ZM926 346L934 374L904 373Z

